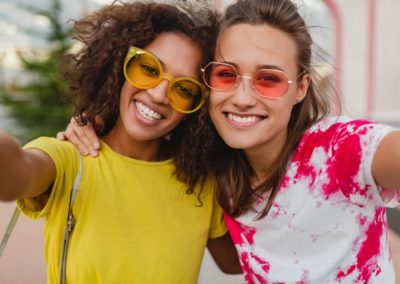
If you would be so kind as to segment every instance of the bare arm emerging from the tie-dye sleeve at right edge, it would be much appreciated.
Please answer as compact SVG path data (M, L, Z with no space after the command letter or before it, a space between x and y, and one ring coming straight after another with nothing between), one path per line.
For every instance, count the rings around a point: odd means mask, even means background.
M372 175L377 184L400 189L400 131L386 135L376 150Z

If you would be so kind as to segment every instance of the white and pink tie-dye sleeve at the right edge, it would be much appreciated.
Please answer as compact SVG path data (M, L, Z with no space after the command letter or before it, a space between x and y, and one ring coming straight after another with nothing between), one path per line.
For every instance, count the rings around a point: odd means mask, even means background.
M365 198L376 206L395 207L400 204L400 192L383 189L372 175L372 161L382 139L396 129L366 120L343 123L337 132L333 151L337 156L339 183L350 199Z

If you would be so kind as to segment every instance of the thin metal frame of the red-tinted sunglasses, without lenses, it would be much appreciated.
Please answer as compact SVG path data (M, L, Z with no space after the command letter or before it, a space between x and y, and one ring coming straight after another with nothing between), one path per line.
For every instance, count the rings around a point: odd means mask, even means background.
M236 81L235 81L235 83L234 83L229 89L218 89L218 88L212 87L212 86L208 83L209 79L206 77L206 69L207 69L208 67L210 67L212 64L218 64L218 65L229 66L229 67L232 67L233 70L235 70ZM287 79L287 89L286 89L286 91L285 91L282 95L280 95L280 96L275 96L275 97L263 95L263 94L257 89L256 85L254 84L254 81L255 81L254 75L257 74L260 70L272 70L272 71L274 71L274 72L278 72L278 73L281 73L282 75L284 75L285 78ZM230 90L232 90L232 89L234 89L234 88L237 88L237 87L239 86L240 78L245 78L245 79L251 79L253 90L256 90L257 93L258 93L261 97L263 97L263 98L268 98L268 99L279 99L279 98L283 97L284 95L287 94L287 92L288 92L288 90L289 90L289 87L290 87L290 84L293 84L293 82L294 82L293 80L289 80L289 76L286 74L286 72L284 72L284 71L282 71L282 70L279 70L279 69L260 68L260 69L258 69L256 72L254 72L253 76L246 76L246 75L239 75L239 72L237 71L237 68L236 68L233 64L226 63L226 62L220 62L220 61L211 61L211 62L208 62L203 68L201 68L201 72L203 72L203 81L204 81L204 83L207 85L207 87L209 87L209 88L212 89L212 90L216 90L216 91L220 91L220 92L227 92L227 91L230 91ZM302 74L303 74L303 73L304 73L304 72L302 72ZM211 73L210 73L210 74L211 74ZM299 75L299 77L300 77L300 76L301 76L301 74ZM286 81L285 81L285 82L286 82Z

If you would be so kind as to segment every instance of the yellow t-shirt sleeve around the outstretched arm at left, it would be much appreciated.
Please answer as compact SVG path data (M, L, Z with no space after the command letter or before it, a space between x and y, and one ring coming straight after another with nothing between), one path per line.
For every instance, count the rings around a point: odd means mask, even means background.
M72 182L78 171L79 154L69 143L58 141L55 138L40 137L24 146L24 149L35 148L45 152L56 166L56 178L50 188L47 201L42 196L22 198L17 200L17 206L27 217L36 219L46 216L53 207L60 205L60 201L69 198Z

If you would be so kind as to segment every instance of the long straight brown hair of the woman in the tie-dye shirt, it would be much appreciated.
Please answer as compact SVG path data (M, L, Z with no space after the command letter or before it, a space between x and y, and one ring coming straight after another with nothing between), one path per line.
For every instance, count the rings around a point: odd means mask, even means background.
M223 209L234 217L251 210L263 194L271 191L269 200L258 218L267 215L286 173L290 157L302 134L315 122L329 114L329 98L316 90L316 76L311 64L312 38L306 23L291 0L238 0L228 6L220 24L220 33L237 24L267 24L288 34L297 46L298 74L311 74L312 80L305 99L296 104L288 124L285 145L267 179L252 188L254 171L242 150L228 147L218 136L206 113L202 129L206 154L199 160L217 179L218 199ZM299 80L303 77L299 76ZM198 146L199 147L199 146Z

